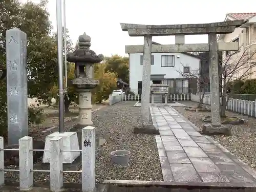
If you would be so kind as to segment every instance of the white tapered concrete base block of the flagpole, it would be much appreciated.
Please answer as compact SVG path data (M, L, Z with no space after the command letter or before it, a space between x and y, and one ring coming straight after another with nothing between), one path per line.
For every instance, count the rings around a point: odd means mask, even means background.
M78 138L76 132L54 132L46 136L45 150L50 150L51 138L62 137L63 148L62 150L79 150ZM80 152L63 152L63 163L72 163L78 156ZM50 163L50 152L44 152L44 157L42 158L43 163Z

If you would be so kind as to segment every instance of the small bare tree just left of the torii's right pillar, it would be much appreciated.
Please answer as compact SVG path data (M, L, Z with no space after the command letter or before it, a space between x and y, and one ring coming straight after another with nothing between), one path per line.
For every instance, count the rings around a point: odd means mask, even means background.
M181 65L184 67L189 67L189 66L185 66L184 64L181 63ZM201 65L201 64L200 64ZM208 73L205 71L205 68L203 67L198 68L198 69L189 69L189 72L184 72L181 70L176 70L180 76L186 78L186 79L196 79L197 80L197 87L199 90L199 98L200 98L200 102L198 104L198 108L202 108L202 104L203 104L203 99L204 99L204 95L205 95L205 89L209 86L209 75L207 75Z

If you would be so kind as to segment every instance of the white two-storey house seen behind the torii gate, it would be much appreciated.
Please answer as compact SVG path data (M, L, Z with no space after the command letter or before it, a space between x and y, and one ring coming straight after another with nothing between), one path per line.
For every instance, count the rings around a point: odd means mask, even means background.
M152 42L152 44L157 44ZM142 91L143 53L129 53L130 88L135 94ZM197 91L197 79L185 78L184 73L199 74L200 58L190 53L152 53L151 84L168 84L170 94Z

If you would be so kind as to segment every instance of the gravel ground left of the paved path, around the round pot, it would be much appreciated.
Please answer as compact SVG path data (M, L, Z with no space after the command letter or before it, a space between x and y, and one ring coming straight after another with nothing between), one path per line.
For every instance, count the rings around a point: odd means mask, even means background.
M134 126L141 124L140 107L135 102L123 101L102 108L93 113L92 119L97 135L105 138L105 144L96 149L96 182L113 180L163 181L155 136L134 135ZM112 165L110 153L115 150L129 150L130 164L122 167ZM15 168L9 166L6 168ZM7 172L6 180L17 181L17 172ZM64 182L80 182L80 174L64 174ZM34 181L47 181L49 174L34 173Z

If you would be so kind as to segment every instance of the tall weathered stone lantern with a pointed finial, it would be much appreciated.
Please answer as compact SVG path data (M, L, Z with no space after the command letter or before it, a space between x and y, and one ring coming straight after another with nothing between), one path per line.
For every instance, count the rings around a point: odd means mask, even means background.
M94 64L101 62L104 56L90 50L91 37L85 32L79 36L78 41L78 49L67 54L67 61L75 63L75 79L72 84L79 94L79 122L75 128L83 128L93 124L91 91L99 84L94 79Z

